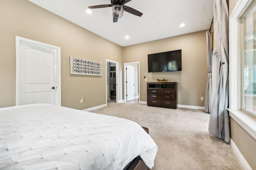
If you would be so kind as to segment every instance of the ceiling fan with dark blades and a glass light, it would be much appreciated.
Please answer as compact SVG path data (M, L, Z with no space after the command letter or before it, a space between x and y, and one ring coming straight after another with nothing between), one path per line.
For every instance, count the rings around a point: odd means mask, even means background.
M95 9L95 8L107 8L112 7L112 15L113 15L113 22L117 22L118 18L121 18L123 16L124 11L129 12L130 14L136 15L141 17L142 13L129 7L125 6L127 2L130 2L131 0L111 0L111 4L106 5L95 5L95 6L88 6L89 9Z

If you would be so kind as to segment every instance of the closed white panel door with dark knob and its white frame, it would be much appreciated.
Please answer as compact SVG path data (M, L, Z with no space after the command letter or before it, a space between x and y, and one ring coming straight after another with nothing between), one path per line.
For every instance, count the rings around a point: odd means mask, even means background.
M57 98L57 51L20 41L18 55L17 105L59 104Z

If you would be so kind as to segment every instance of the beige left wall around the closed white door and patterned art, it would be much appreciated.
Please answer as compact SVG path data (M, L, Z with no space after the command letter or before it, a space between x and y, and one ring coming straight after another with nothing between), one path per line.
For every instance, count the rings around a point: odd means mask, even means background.
M106 59L122 71L122 47L27 0L0 0L0 107L16 105L16 35L61 47L62 106L106 104ZM70 56L102 62L102 76L70 75Z

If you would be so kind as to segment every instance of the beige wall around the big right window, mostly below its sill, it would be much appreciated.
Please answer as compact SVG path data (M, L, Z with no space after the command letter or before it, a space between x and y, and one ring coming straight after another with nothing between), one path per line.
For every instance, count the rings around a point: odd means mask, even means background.
M238 0L229 0L229 15ZM232 98L232 94L231 94ZM256 169L256 139L253 138L234 119L230 118L230 137L250 167Z

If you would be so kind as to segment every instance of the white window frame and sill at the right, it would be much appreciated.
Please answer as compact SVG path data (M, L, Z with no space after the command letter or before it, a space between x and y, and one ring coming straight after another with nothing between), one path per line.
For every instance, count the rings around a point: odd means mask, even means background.
M229 18L229 115L256 139L256 121L246 115L242 106L242 17L254 0L237 2ZM232 94L232 96L231 96Z

